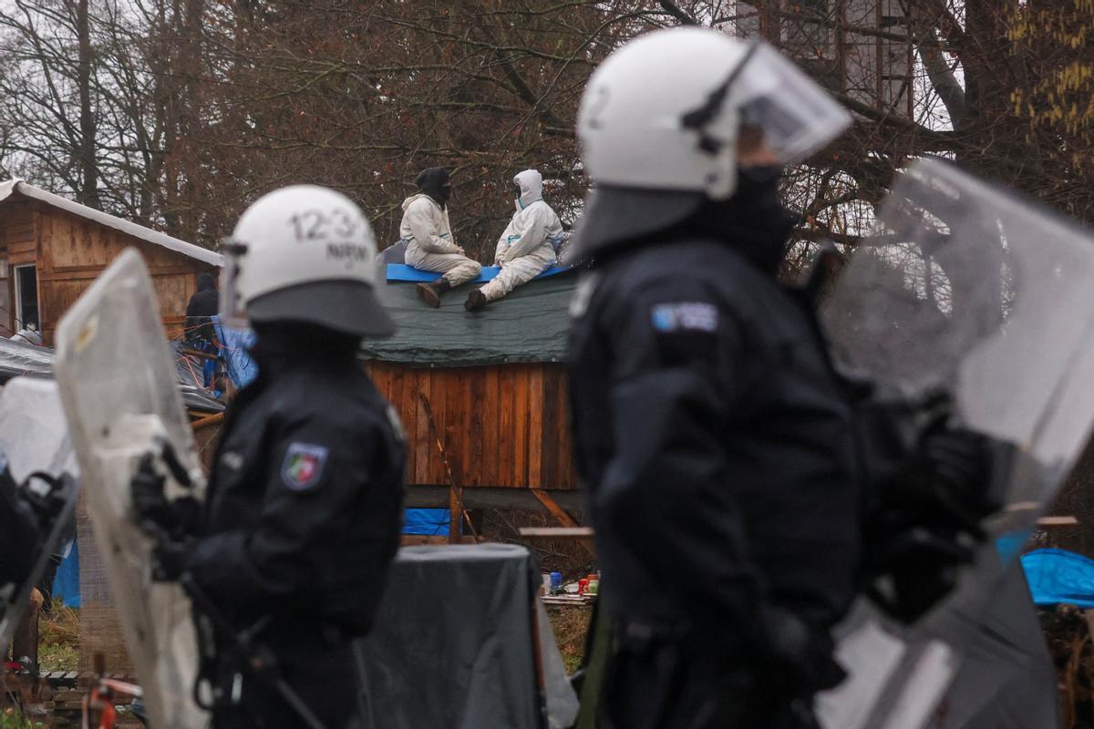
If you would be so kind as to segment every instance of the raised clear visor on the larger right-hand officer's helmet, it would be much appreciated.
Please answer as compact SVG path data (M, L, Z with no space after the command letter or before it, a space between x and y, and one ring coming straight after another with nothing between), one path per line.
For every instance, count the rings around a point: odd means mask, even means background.
M741 125L763 131L780 165L805 160L847 129L851 115L766 43L748 55L730 87Z

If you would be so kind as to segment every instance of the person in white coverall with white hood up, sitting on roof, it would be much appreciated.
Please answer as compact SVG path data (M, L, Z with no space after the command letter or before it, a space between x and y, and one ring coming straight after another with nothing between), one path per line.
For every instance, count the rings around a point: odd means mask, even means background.
M544 202L544 178L535 169L513 177L516 186L516 212L498 238L493 264L501 271L485 286L473 291L464 308L475 311L497 301L555 264L555 254L562 243L562 224L550 205Z

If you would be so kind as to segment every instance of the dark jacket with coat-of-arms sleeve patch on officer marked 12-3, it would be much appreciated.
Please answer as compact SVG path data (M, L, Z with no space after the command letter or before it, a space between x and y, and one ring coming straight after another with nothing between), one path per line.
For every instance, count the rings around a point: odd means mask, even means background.
M226 416L187 567L240 627L363 635L398 546L401 427L350 362L266 368Z

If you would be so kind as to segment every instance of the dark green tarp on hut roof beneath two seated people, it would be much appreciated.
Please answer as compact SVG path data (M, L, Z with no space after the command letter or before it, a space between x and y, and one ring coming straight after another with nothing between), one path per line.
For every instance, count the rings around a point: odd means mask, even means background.
M472 284L455 289L438 309L426 306L415 284L387 283L376 293L395 319L395 336L365 340L364 356L411 365L465 367L507 362L561 362L569 330L567 310L575 272L537 279L475 314L464 310Z

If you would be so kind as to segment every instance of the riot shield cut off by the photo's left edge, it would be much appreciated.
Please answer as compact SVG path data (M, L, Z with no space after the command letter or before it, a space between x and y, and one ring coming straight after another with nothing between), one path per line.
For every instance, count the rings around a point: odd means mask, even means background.
M0 656L4 656L30 607L31 591L49 560L60 552L75 512L75 460L56 383L15 377L4 385L0 392L0 454L14 482L35 492L42 538L30 572L18 584L0 584ZM39 479L28 482L36 471L59 481L51 485Z

